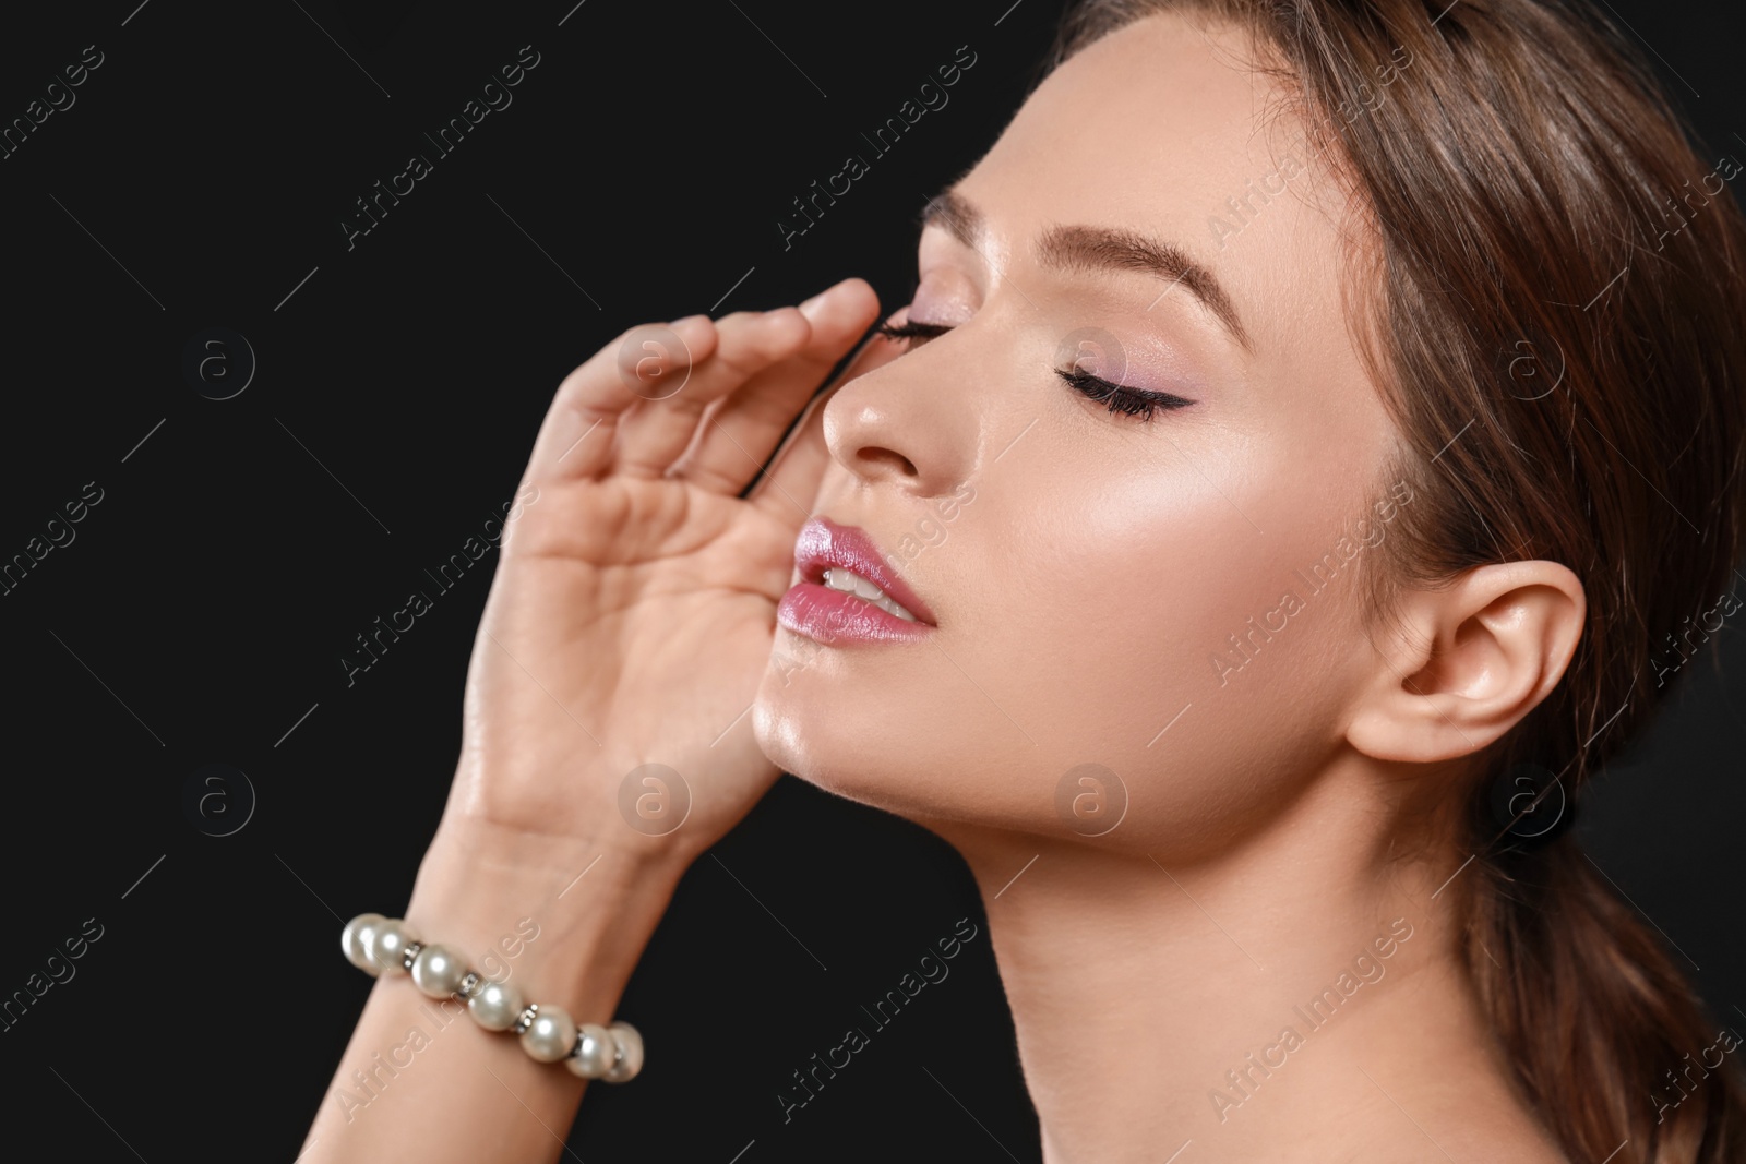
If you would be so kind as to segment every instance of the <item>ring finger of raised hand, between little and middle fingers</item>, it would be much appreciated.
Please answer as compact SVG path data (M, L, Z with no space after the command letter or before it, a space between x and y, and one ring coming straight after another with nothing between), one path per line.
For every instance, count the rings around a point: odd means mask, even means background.
M812 325L794 307L739 312L716 321L716 337L714 354L695 361L686 379L656 377L651 393L658 396L620 417L616 473L665 475L691 445L704 410L793 359L810 342Z

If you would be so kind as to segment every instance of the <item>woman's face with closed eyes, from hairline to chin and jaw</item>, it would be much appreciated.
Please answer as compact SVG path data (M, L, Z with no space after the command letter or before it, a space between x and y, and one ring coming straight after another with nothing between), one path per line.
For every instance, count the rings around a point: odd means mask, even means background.
M894 321L950 330L878 340L829 400L815 503L932 625L863 637L791 592L754 707L784 770L1187 855L1339 754L1381 665L1357 574L1407 494L1372 504L1395 436L1343 311L1343 195L1245 44L1177 17L1093 44L936 199Z

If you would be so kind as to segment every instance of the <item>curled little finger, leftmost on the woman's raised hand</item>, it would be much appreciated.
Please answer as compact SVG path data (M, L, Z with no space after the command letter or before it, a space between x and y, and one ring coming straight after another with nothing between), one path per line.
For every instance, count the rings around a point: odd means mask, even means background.
M646 400L650 384L688 377L693 365L716 353L716 325L707 316L690 316L665 326L630 328L594 353L552 396L527 459L527 480L604 473L625 412Z

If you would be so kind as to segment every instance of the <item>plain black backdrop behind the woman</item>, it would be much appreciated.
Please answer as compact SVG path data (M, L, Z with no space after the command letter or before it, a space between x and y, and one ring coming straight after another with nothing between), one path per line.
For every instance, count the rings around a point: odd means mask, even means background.
M47 1122L80 1161L290 1161L370 986L340 923L405 906L436 825L494 557L349 688L340 654L508 501L552 389L625 326L849 274L904 302L917 211L999 134L1060 3L136 2L0 31L3 120L86 45L105 54L0 161L0 558L103 490L0 597L0 996L103 927L0 1030L7 1136ZM1739 26L1617 12L1704 157L1746 157ZM436 159L421 134L522 45L540 65L513 105ZM784 250L789 201L960 45L976 65L950 105ZM416 152L433 173L347 250L342 216ZM258 359L232 400L183 377L211 326ZM1746 658L1720 639L1578 827L1739 1024ZM211 763L258 796L230 836L183 808ZM580 1159L1041 1157L952 850L784 778L714 852L620 1007L648 1068L590 1089ZM784 1124L789 1072L966 916L983 932L952 977Z

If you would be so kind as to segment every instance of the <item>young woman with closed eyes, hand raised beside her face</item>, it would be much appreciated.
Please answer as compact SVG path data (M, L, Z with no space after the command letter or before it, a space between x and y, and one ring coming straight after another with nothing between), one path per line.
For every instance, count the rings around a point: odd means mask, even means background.
M674 883L791 771L967 859L1051 1164L1741 1159L1734 1028L1538 824L1732 597L1737 173L1545 0L1090 0L810 408L861 281L559 387L443 827L347 951L538 914L494 1005L634 1061ZM426 1002L384 972L335 1089ZM311 1159L557 1159L583 1080L513 1044Z

